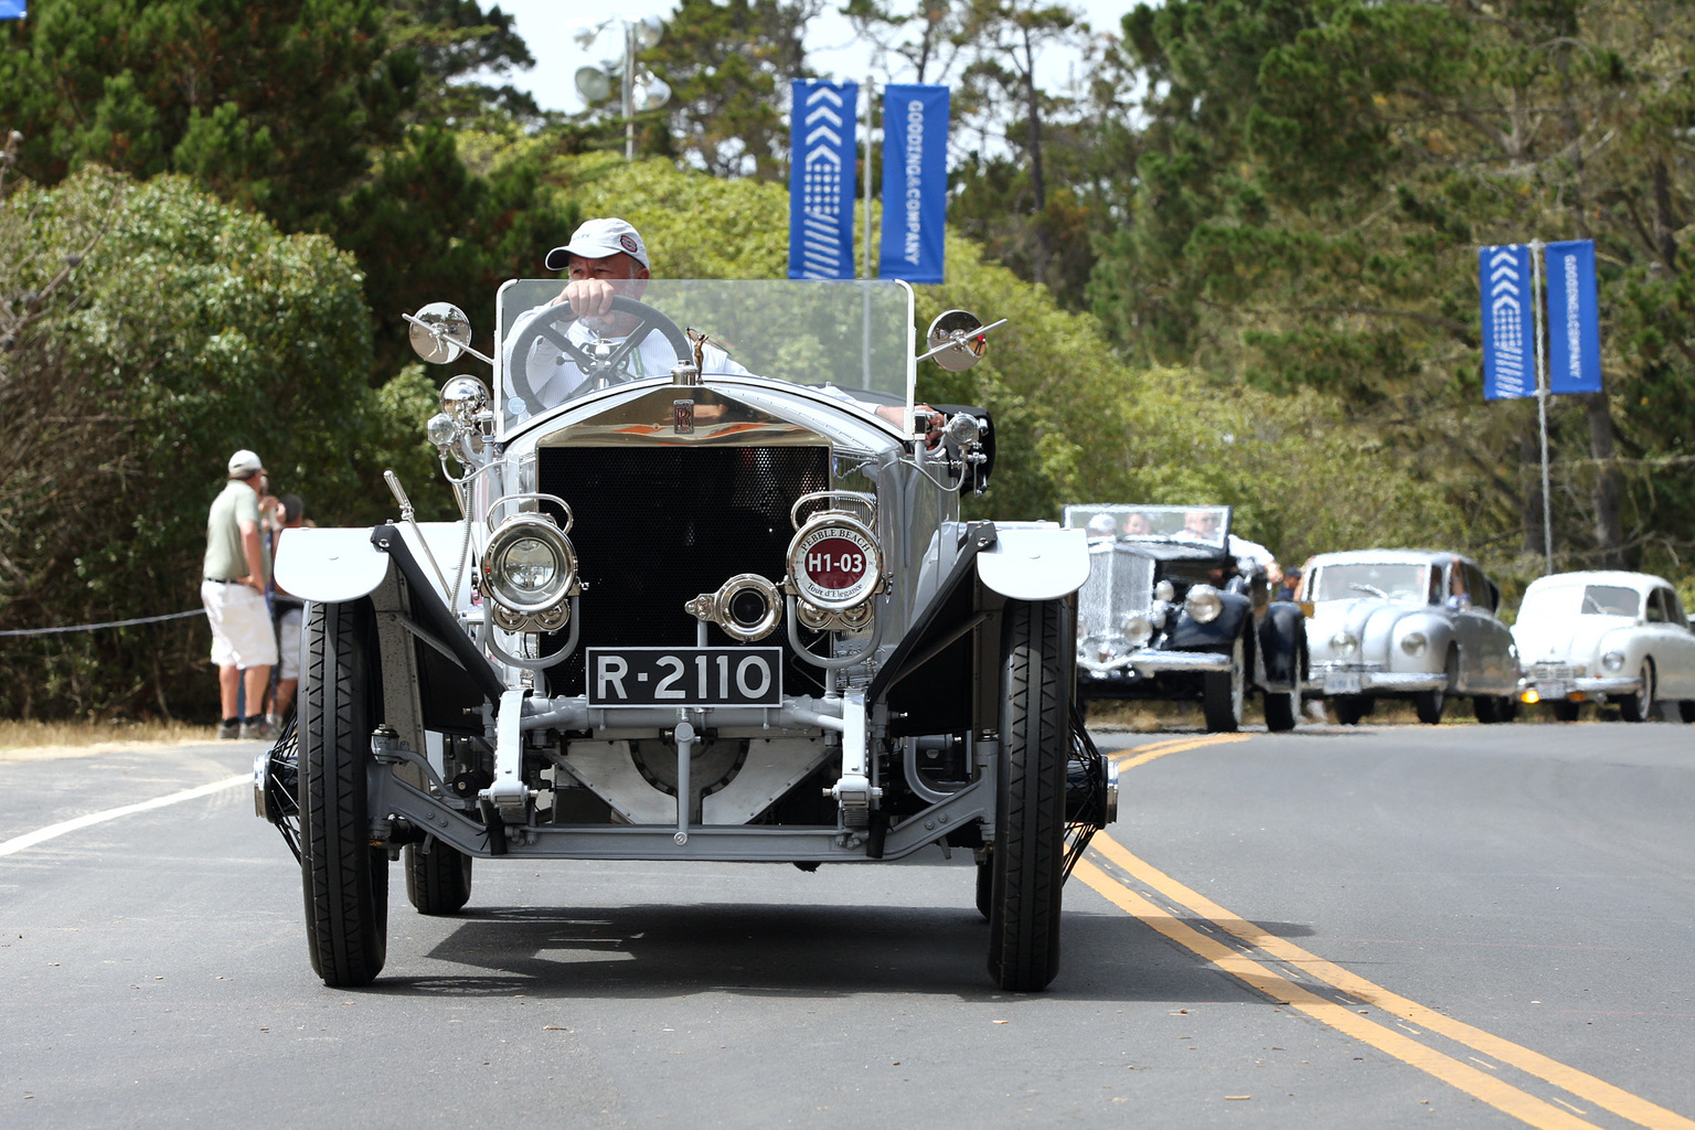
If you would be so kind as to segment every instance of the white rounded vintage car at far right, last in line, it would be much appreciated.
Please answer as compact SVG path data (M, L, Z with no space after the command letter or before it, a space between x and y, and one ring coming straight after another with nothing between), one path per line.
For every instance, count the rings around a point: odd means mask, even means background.
M1575 722L1585 701L1646 722L1675 701L1695 722L1695 634L1671 584L1648 573L1556 573L1524 591L1512 629L1527 703Z

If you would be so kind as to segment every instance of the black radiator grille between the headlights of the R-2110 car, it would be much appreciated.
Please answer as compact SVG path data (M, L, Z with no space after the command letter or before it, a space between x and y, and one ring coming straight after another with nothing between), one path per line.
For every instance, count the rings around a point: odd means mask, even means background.
M576 654L549 671L551 691L583 693L588 647L692 647L683 603L737 573L780 581L795 535L788 510L829 490L829 447L542 447L537 486L571 503L586 586ZM544 635L542 652L563 639ZM717 627L709 642L734 644ZM773 644L788 651L781 627L759 640ZM819 686L814 667L788 659L785 693Z

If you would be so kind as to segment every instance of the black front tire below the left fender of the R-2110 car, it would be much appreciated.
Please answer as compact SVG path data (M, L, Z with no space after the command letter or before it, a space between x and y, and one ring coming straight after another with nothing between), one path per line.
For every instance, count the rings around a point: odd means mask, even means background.
M300 679L300 876L324 984L370 984L388 956L388 852L371 847L376 630L364 603L314 603Z

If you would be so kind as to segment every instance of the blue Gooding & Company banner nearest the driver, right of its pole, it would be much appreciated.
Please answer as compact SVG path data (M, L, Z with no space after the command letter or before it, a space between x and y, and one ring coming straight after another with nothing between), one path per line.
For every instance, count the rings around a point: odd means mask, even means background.
M883 88L880 278L942 281L948 227L948 88Z

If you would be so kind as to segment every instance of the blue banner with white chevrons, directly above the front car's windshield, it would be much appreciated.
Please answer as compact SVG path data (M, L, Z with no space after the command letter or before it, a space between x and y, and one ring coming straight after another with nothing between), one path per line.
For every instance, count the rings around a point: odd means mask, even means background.
M858 83L790 85L788 278L856 278L853 269Z

